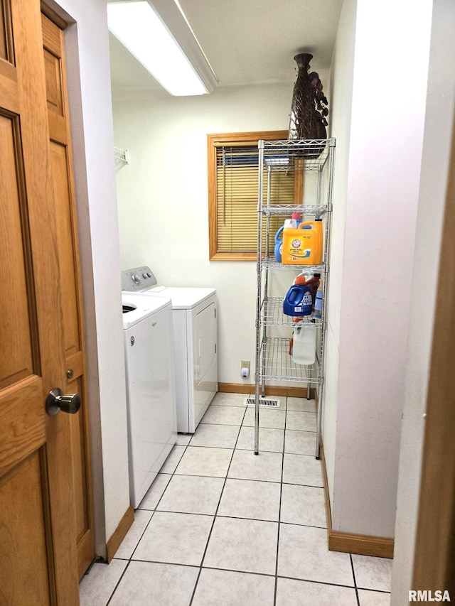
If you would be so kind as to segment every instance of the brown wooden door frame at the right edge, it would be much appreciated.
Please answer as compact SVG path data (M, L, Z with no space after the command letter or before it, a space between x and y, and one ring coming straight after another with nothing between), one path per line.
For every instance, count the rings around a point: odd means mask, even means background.
M455 600L455 121L443 226L412 589Z

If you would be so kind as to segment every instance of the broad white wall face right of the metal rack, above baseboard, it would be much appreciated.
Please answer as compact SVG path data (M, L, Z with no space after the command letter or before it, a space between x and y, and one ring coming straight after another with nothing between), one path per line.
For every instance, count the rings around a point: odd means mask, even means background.
M332 420L324 435L334 531L395 531L431 4L357 1L349 159L341 180L346 227L344 234L342 224L335 229L344 237L338 386L331 394L336 431ZM343 46L350 60L352 46ZM350 65L346 71L349 82ZM336 359L336 312L331 318Z

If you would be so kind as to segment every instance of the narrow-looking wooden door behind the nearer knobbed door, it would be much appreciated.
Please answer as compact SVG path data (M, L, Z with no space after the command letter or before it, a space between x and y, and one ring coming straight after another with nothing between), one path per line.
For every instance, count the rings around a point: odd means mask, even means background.
M43 55L50 144L50 167L57 222L60 265L60 306L63 312L63 351L65 355L65 393L78 393L82 405L70 417L70 443L73 461L76 543L79 578L95 557L93 533L90 441L85 382L85 340L82 314L77 219L73 185L70 117L65 77L63 31L42 15Z

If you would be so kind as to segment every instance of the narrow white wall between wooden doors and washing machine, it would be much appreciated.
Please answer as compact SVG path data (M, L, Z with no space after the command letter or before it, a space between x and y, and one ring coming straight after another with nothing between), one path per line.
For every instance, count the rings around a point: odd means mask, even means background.
M105 0L48 2L65 32L80 229L96 549L129 507L119 238Z

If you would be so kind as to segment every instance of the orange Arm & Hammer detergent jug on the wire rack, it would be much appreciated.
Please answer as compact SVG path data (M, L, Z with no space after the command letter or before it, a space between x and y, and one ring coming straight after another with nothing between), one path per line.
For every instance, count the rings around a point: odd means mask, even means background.
M282 263L319 265L322 261L322 220L306 221L298 227L284 227Z

